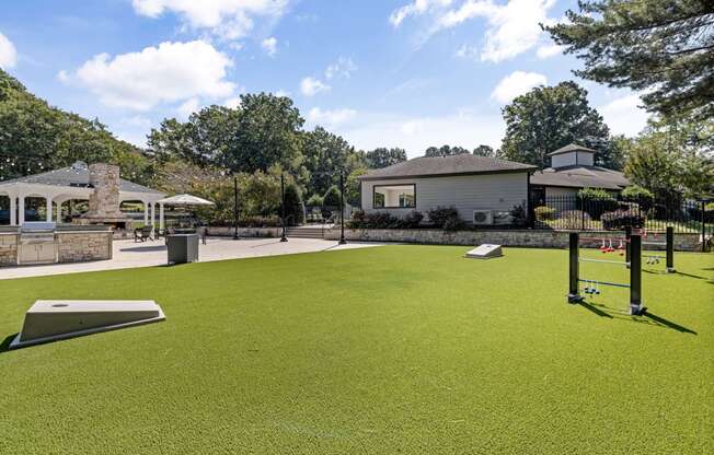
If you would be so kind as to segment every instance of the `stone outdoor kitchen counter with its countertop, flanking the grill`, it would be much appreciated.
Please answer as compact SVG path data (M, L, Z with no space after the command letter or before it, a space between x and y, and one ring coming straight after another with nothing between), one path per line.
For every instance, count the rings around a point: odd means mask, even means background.
M112 259L113 234L110 226L58 225L54 231L57 262L84 262ZM20 228L0 228L0 267L18 266Z

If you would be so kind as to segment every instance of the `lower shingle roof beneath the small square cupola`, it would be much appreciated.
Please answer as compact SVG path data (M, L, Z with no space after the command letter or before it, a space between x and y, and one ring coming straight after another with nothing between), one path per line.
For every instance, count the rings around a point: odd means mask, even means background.
M563 186L572 188L602 188L619 190L630 180L619 171L598 166L549 167L530 177L531 185Z

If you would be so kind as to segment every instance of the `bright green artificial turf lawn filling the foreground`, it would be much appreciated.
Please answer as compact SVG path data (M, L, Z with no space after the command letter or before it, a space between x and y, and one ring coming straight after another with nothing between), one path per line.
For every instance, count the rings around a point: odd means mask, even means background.
M153 299L168 317L8 338L0 453L714 453L714 255L645 266L652 316L631 317L619 289L566 304L566 250L467 249L0 281L0 341L36 299Z

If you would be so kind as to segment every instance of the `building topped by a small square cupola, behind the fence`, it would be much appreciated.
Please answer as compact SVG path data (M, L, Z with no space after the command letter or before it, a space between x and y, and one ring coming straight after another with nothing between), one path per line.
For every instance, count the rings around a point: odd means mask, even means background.
M619 171L595 165L595 150L572 143L549 153L551 167L531 176L534 200L575 196L583 188L602 188L620 192L630 180Z

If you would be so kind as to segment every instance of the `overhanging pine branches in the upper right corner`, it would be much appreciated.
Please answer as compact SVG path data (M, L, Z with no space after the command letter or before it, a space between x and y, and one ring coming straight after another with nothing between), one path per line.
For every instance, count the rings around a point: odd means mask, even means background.
M644 91L649 110L714 117L714 7L706 0L580 0L579 13L545 27L585 61L575 71Z

